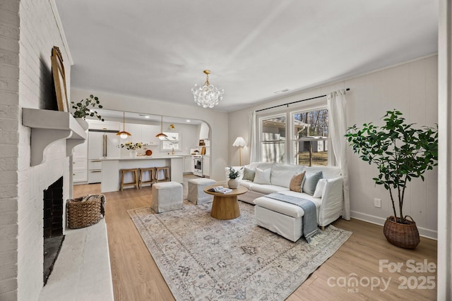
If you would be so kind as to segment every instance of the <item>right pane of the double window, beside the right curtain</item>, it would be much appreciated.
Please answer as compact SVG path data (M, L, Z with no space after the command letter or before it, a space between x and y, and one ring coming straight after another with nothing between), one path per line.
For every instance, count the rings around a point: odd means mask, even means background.
M328 110L292 113L297 165L328 165Z

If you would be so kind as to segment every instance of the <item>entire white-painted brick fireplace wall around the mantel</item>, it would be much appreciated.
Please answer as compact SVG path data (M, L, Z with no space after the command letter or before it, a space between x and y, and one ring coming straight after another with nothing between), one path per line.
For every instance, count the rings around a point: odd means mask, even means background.
M60 140L30 166L30 128L22 108L54 109L50 56L58 46L68 89L71 66L51 1L0 1L0 300L37 300L42 290L43 190L64 176L69 198L69 158Z

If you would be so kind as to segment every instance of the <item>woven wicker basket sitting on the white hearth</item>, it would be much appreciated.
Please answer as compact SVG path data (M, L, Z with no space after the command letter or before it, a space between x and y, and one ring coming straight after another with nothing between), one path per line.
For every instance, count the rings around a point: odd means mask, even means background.
M76 199L68 199L68 227L84 228L99 222L102 218L100 206L103 195L86 195Z

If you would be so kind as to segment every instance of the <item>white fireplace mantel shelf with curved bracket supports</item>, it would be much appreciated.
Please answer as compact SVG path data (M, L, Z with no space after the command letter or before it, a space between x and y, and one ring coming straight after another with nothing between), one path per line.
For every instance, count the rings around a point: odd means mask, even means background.
M87 137L69 112L23 108L22 125L31 128L31 166L41 164L45 149L57 140L66 139L66 156L70 156Z

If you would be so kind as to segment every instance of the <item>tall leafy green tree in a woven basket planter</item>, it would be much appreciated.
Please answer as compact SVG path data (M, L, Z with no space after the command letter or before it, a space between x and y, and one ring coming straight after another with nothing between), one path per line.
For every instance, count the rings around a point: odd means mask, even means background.
M405 188L412 178L424 180L425 171L437 165L438 130L437 126L416 129L405 123L397 110L386 111L383 121L386 124L381 127L372 123L364 123L362 128L353 125L345 137L359 158L376 164L379 175L373 178L375 184L383 185L391 196L394 215L384 224L386 239L398 247L414 249L420 238L415 221L403 215Z

